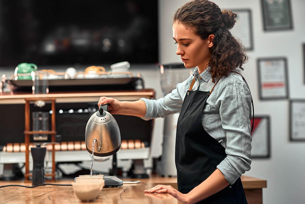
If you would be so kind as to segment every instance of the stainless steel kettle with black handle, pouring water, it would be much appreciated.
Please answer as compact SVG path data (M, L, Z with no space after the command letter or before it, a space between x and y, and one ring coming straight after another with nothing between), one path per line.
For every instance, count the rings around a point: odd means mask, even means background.
M92 154L93 140L96 139L94 155L99 157L113 155L121 148L119 126L107 108L108 104L100 106L99 111L89 118L85 130L87 151Z

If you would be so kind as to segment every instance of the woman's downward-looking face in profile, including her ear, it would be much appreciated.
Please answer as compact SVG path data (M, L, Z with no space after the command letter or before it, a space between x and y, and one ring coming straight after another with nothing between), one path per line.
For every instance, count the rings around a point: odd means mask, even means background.
M202 40L193 30L185 28L181 23L173 24L173 39L177 44L176 54L180 55L186 68L198 66L204 71L210 59L209 47L213 46L210 36Z

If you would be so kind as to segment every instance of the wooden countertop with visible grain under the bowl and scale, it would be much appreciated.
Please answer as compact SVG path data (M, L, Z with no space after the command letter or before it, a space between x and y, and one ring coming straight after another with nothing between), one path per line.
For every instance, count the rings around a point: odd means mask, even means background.
M101 194L94 202L103 204L154 204L166 203L176 204L177 199L169 194L148 194L144 190L149 189L156 184L175 185L177 178L163 178L152 176L148 179L123 179L140 180L140 184L124 184L122 187L103 188ZM58 180L57 184L70 184L73 180ZM267 181L250 176L242 176L244 188L264 188L267 187ZM19 184L31 186L31 183L23 181L0 181L0 185ZM177 185L177 184L176 184ZM46 185L35 188L24 187L4 187L0 188L1 203L79 203L74 196L72 186L52 186ZM179 203L179 202L178 202Z

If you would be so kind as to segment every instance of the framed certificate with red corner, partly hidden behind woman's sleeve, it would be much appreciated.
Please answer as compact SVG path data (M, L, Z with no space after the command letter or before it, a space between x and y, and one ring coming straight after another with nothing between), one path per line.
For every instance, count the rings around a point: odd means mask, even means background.
M252 118L251 118L252 125ZM251 158L270 157L270 120L269 116L254 117L253 131L251 132Z

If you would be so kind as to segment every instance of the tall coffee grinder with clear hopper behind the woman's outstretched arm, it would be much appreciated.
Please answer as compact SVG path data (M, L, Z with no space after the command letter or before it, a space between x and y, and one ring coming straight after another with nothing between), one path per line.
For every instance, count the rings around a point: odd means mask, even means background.
M163 96L169 94L178 83L186 80L193 72L193 69L185 68L183 63L161 64L159 66ZM157 167L157 173L160 176L177 176L175 143L179 114L170 114L164 118L162 156Z

